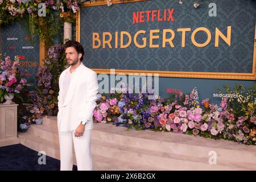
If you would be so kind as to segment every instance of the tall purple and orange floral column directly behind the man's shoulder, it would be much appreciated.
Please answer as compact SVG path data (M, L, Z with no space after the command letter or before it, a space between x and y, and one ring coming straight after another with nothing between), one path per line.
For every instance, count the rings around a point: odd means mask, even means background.
M48 58L38 68L36 90L28 93L28 114L23 115L24 121L34 123L43 115L57 115L57 94L59 93L59 75L66 66L63 45L48 49Z

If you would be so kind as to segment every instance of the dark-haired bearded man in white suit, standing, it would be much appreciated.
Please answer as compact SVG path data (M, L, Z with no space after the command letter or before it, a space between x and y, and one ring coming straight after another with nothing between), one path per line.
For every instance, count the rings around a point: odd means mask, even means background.
M79 42L65 43L69 68L59 78L57 126L60 142L60 170L72 170L73 145L77 169L92 170L90 136L96 107L98 81L96 72L81 63L84 49Z

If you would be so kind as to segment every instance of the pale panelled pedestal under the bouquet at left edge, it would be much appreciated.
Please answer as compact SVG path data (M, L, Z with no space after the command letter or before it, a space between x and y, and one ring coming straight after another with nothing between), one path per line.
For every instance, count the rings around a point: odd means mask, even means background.
M0 104L0 147L20 143L17 138L18 104Z

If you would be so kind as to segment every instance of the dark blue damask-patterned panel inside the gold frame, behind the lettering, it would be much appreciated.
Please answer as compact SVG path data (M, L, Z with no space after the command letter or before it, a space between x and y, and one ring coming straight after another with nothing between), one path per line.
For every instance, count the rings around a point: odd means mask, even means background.
M209 3L216 3L217 16L210 17ZM175 9L174 22L144 22L133 24L133 12ZM147 2L121 3L113 6L82 7L80 19L80 42L85 47L85 65L100 69L137 69L158 71L192 71L192 72L237 72L251 73L253 67L253 45L255 35L256 1L253 0L211 0L203 1L197 9L192 1L154 0ZM157 15L158 13L156 13ZM168 14L167 14L168 15ZM167 16L168 17L168 16ZM144 19L147 19L145 14ZM157 17L155 18L157 19ZM220 38L219 47L214 47L215 28L225 36L227 27L232 26L231 46ZM199 27L208 28L212 34L210 43L202 48L191 42L193 30ZM186 33L185 47L181 47L181 32L177 28L191 28ZM150 30L160 30L160 38L154 40L159 48L149 47ZM175 32L174 48L166 44L162 48L162 30L172 29ZM137 48L133 36L139 30L145 30L145 35L139 35L137 40L142 44L142 38L147 38L145 48ZM118 31L118 48L114 48L115 31ZM120 48L120 32L131 34L131 44ZM102 32L113 35L113 48L92 48L92 34L97 32L102 43ZM167 34L167 37L170 36ZM108 39L108 36L107 36ZM200 31L195 39L198 43L207 40L207 34ZM125 36L124 43L127 43Z

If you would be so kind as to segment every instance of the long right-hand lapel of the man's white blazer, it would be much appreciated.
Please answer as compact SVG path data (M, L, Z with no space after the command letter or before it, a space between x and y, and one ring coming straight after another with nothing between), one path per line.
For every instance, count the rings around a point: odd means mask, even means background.
M81 65L81 67L83 67L83 65ZM69 70L68 70L68 72L69 72ZM72 80L71 80L71 82L68 86L68 91L67 91L66 98L64 98L63 106L68 105L68 103L71 101L73 93L74 93L75 88L76 88L76 83L79 80L79 76L80 76L81 72L82 72L82 69L80 68L80 69L77 70L76 74L72 77Z

